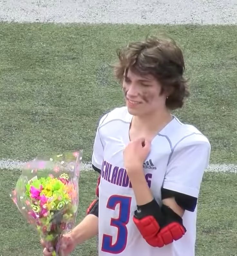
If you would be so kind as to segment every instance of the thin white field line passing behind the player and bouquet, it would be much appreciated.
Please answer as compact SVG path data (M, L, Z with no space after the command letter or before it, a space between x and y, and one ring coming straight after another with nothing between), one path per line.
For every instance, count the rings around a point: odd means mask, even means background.
M20 169L24 165L25 161L16 161L10 159L0 160L0 169L16 170ZM91 170L91 163L82 163L81 170L89 171ZM205 170L206 172L225 172L225 173L236 173L237 165L235 164L210 164Z

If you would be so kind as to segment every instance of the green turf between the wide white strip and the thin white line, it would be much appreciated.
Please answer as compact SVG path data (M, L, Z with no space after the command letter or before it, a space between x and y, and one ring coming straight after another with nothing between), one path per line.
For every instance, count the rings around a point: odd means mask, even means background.
M212 163L237 163L236 26L1 24L0 159L83 148L89 161L100 116L123 105L116 49L160 31L184 49L190 78L175 114L208 136Z

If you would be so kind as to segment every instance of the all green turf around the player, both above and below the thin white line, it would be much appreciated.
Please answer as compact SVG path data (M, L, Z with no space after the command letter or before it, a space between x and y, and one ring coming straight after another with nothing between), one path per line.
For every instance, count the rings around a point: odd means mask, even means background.
M191 97L181 121L210 140L210 163L237 163L237 26L52 25L0 23L0 159L83 149L90 161L99 118L123 105L109 64L116 49L166 32L181 45ZM0 170L0 256L42 255L36 232L11 201L20 170ZM97 175L82 172L78 221ZM236 256L236 174L205 173L196 256ZM227 185L226 185L226 184ZM72 255L96 256L96 239Z

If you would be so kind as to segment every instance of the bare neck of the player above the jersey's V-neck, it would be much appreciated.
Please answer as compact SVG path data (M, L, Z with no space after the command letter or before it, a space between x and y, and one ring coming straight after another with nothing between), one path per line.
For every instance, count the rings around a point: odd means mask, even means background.
M164 128L172 120L169 110L162 110L146 114L144 116L134 116L132 126L141 132L157 132Z

